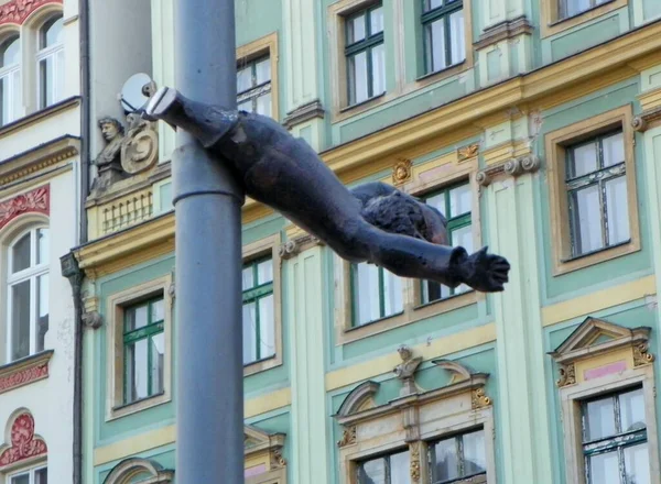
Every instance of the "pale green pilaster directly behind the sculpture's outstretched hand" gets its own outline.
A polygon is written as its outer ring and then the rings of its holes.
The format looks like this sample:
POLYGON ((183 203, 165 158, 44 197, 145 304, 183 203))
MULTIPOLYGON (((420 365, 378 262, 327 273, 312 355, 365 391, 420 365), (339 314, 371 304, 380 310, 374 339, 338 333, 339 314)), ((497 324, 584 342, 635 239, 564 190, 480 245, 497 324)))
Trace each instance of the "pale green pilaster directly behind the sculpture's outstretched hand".
MULTIPOLYGON (((512 123, 510 132, 517 132, 520 124, 512 123)), ((540 311, 541 275, 534 227, 539 160, 530 153, 523 154, 523 150, 521 155, 514 154, 519 145, 514 141, 505 143, 508 150, 513 150, 512 156, 518 157, 491 163, 478 174, 489 217, 489 249, 511 264, 505 292, 492 295, 500 402, 497 432, 502 449, 503 482, 551 484, 550 429, 543 417, 548 415, 549 399, 540 311)), ((491 153, 497 154, 497 150, 491 153)))

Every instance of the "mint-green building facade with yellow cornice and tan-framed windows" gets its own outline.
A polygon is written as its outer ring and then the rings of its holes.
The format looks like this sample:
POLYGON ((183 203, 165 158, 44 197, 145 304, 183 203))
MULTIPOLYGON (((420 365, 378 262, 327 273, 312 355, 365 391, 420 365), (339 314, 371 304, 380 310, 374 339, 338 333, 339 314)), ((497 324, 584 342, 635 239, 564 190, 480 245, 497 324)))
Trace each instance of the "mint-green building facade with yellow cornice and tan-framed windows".
MULTIPOLYGON (((150 48, 130 62, 173 86, 172 2, 141 15, 150 48)), ((239 0, 236 15, 242 109, 512 265, 494 295, 401 279, 248 199, 246 482, 660 483, 659 3, 239 0)), ((174 319, 174 134, 96 98, 115 110, 93 120, 113 175, 99 165, 75 251, 85 482, 176 482, 174 341, 195 321, 174 319)))

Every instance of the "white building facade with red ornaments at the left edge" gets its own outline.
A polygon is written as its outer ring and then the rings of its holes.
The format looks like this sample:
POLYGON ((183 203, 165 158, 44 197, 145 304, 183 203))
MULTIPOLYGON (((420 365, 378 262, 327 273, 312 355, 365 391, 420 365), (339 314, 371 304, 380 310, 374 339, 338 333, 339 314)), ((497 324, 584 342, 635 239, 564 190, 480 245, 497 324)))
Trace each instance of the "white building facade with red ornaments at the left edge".
POLYGON ((0 482, 72 482, 79 230, 76 0, 0 1, 0 482))

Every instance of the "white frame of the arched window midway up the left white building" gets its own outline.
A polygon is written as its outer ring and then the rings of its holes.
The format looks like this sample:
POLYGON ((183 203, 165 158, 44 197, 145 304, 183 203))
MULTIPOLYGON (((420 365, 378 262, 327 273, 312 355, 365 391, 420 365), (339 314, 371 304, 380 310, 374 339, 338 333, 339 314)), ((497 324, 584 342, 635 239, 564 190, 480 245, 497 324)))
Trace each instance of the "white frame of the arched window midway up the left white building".
MULTIPOLYGON (((24 283, 25 280, 30 280, 30 352, 28 355, 33 355, 36 353, 36 305, 35 295, 36 295, 36 280, 39 277, 43 275, 48 275, 50 270, 50 257, 46 258, 45 262, 41 264, 32 265, 32 261, 36 261, 36 251, 37 251, 37 231, 39 230, 48 230, 47 226, 33 226, 29 229, 21 231, 17 237, 14 237, 11 243, 8 245, 8 267, 7 267, 7 283, 6 283, 6 292, 7 292, 7 363, 12 363, 12 297, 11 297, 11 287, 15 286, 20 283, 24 283), (30 267, 20 271, 18 273, 12 273, 11 268, 13 266, 13 246, 19 242, 25 234, 30 234, 30 267)), ((50 237, 50 233, 48 233, 50 237)), ((46 248, 47 250, 47 248, 46 248)), ((50 283, 50 282, 48 282, 50 283)))

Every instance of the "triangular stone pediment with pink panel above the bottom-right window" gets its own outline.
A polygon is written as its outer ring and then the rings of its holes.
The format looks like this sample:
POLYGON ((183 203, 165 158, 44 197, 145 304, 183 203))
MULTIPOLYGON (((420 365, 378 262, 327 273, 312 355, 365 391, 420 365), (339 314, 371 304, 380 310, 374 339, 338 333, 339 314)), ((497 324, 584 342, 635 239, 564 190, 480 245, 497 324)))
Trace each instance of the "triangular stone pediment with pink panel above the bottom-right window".
POLYGON ((549 354, 559 365, 557 386, 594 380, 650 364, 651 328, 625 328, 588 317, 549 354))

